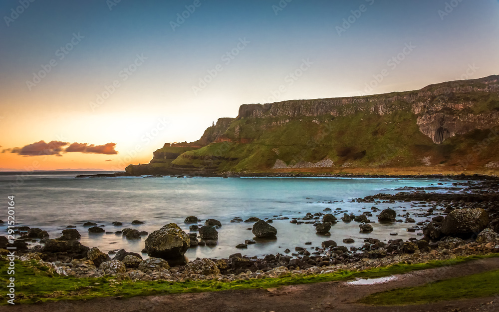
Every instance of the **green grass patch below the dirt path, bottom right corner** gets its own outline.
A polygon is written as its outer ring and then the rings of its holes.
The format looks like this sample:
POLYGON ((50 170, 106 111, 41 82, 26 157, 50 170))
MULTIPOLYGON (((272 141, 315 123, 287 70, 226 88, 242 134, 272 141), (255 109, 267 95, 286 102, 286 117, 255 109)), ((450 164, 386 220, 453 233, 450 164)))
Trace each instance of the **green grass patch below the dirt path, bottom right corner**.
POLYGON ((369 305, 411 305, 491 297, 499 294, 499 270, 437 281, 419 287, 399 288, 367 296, 360 302, 369 305))

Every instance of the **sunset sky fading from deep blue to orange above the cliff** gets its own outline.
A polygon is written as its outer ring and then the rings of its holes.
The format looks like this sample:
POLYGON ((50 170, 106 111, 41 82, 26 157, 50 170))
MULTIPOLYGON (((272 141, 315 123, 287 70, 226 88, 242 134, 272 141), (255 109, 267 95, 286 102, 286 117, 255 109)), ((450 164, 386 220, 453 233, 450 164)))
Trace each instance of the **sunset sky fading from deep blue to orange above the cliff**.
POLYGON ((498 0, 2 0, 0 16, 0 170, 123 170, 242 104, 499 74, 498 0))

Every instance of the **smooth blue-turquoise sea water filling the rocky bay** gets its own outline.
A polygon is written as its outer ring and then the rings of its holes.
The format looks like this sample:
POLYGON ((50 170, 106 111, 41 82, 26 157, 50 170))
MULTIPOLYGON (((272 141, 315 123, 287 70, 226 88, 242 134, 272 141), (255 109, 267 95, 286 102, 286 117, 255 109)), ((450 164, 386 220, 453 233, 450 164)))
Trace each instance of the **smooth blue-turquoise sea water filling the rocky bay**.
MULTIPOLYGON (((260 257, 283 253, 286 248, 294 252, 296 246, 320 247, 321 242, 330 239, 338 245, 361 247, 363 240, 369 237, 382 241, 418 237, 421 231, 406 231, 414 223, 372 223, 374 231, 361 234, 359 223, 338 220, 331 228, 331 235, 323 236, 316 234, 312 224, 296 225, 290 220, 276 219, 300 218, 307 212, 327 213, 323 211, 325 208, 332 209, 331 213, 340 219, 343 212, 339 213, 337 208, 359 215, 375 206, 381 210, 393 208, 401 215, 409 212, 416 222, 424 221, 426 217, 416 215, 428 210, 422 203, 368 204, 350 201, 377 193, 397 193, 401 191, 397 189, 402 187, 430 187, 432 189, 428 192, 445 192, 455 182, 446 178, 75 178, 78 174, 89 173, 37 172, 19 175, 1 172, 0 194, 4 200, 0 201, 3 202, 0 220, 6 221, 7 196, 14 195, 18 226, 41 228, 50 234, 50 238, 56 238, 66 226, 74 225, 81 234, 83 245, 98 247, 106 253, 121 248, 141 253, 145 237, 127 240, 114 232, 133 228, 151 233, 172 222, 189 232, 189 225, 184 224, 186 216, 202 219, 200 227, 204 220, 213 218, 222 223, 218 229, 218 245, 189 249, 186 253, 188 259, 227 258, 237 252, 260 257), (438 183, 443 185, 437 186, 438 183), (249 217, 274 219, 272 226, 277 229, 277 239, 258 241, 249 245, 248 249, 236 249, 236 245, 253 239, 253 234, 249 230, 252 223, 231 223, 235 217, 243 220, 249 217), (144 224, 131 225, 133 220, 143 221, 144 224), (86 221, 104 225, 106 232, 113 233, 89 235, 88 228, 83 227, 86 221), (122 222, 123 226, 113 226, 114 221, 122 222), (390 236, 390 233, 398 235, 390 236), (353 238, 355 243, 343 244, 345 238, 353 238), (305 246, 305 242, 312 242, 312 245, 305 246)), ((377 221, 377 214, 373 213, 369 219, 377 221)), ((0 231, 4 233, 5 229, 6 224, 0 224, 0 231)), ((143 254, 143 257, 147 258, 147 255, 143 254)))

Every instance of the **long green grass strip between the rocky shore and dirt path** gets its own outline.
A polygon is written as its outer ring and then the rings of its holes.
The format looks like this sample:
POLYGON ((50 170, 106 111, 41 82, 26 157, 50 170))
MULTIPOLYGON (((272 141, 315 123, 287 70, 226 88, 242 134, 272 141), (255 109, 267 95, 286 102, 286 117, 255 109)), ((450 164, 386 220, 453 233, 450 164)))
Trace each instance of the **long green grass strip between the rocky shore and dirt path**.
MULTIPOLYGON (((168 282, 158 281, 115 281, 113 277, 75 278, 52 275, 48 268, 34 261, 15 262, 15 294, 16 304, 32 304, 59 300, 87 300, 92 298, 123 296, 166 295, 179 293, 200 293, 226 290, 244 290, 256 288, 273 288, 285 285, 309 284, 319 282, 345 281, 355 278, 379 278, 395 274, 403 274, 415 270, 439 268, 466 263, 469 261, 498 257, 499 254, 487 256, 459 257, 450 260, 436 260, 420 264, 395 264, 388 267, 365 271, 338 271, 321 275, 294 275, 280 278, 252 279, 249 281, 191 281, 168 282)), ((0 272, 7 272, 8 263, 0 260, 0 272)), ((6 274, 0 276, 2 286, 8 285, 6 274)), ((6 304, 5 292, 0 293, 0 302, 6 304)))

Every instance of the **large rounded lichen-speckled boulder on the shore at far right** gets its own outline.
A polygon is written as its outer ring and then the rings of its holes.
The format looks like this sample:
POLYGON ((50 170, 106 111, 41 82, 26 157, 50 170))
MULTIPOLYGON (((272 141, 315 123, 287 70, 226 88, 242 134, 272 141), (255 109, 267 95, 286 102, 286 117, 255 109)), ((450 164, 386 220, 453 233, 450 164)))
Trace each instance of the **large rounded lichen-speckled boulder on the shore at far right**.
POLYGON ((489 215, 482 208, 455 209, 442 224, 444 235, 471 235, 482 232, 489 224, 489 215))

